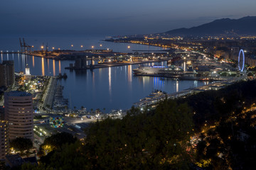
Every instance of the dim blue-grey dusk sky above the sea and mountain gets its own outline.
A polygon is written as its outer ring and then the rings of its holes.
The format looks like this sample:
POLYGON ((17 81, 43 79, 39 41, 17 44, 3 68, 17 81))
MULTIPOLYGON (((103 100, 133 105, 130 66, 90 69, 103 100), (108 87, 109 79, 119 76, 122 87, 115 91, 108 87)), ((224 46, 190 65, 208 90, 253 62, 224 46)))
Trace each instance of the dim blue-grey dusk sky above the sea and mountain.
POLYGON ((256 16, 255 0, 1 0, 0 35, 162 33, 256 16))

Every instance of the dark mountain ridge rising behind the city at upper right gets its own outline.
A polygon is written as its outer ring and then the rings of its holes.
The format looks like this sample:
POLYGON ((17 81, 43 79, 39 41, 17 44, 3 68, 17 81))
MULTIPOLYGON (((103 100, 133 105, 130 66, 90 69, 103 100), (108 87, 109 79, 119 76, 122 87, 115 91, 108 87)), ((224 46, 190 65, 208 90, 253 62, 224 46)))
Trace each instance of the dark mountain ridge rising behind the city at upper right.
POLYGON ((240 19, 223 18, 201 26, 179 28, 166 32, 169 35, 220 35, 236 33, 238 35, 256 35, 256 16, 240 19))

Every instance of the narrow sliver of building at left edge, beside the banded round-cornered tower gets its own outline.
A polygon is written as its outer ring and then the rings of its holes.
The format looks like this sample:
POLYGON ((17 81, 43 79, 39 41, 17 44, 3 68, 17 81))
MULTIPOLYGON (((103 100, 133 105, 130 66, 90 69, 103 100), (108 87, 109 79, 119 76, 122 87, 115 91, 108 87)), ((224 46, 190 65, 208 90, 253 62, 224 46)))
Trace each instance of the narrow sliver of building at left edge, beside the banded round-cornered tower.
POLYGON ((0 160, 9 152, 8 122, 0 120, 0 160))

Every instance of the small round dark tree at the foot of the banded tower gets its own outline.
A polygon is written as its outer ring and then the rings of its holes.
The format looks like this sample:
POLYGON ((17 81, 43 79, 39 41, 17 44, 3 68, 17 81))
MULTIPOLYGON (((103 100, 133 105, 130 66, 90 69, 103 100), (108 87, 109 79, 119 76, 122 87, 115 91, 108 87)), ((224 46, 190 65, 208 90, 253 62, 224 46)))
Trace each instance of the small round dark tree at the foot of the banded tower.
POLYGON ((28 138, 17 137, 15 140, 10 142, 10 146, 17 152, 23 154, 24 151, 28 151, 33 147, 33 142, 28 138))

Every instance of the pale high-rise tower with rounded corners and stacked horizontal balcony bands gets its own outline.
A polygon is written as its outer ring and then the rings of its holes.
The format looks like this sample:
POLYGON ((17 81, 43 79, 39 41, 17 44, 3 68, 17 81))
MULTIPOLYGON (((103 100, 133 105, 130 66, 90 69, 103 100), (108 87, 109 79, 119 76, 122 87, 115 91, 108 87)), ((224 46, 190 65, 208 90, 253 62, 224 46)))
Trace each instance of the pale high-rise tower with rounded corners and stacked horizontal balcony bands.
POLYGON ((33 141, 32 95, 24 91, 6 92, 4 119, 9 122, 9 140, 25 137, 33 141))

